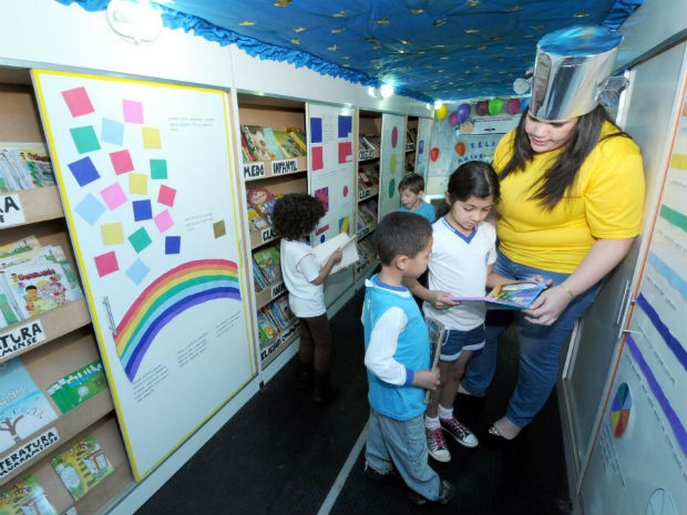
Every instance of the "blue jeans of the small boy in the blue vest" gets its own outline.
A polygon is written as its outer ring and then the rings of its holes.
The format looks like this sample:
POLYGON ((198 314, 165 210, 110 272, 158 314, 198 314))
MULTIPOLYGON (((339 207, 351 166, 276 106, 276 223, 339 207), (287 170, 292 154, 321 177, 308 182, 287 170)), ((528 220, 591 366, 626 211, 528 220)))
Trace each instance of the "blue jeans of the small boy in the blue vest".
POLYGON ((409 488, 430 501, 439 497, 441 481, 428 463, 423 415, 401 422, 370 409, 365 460, 380 474, 396 466, 409 488))

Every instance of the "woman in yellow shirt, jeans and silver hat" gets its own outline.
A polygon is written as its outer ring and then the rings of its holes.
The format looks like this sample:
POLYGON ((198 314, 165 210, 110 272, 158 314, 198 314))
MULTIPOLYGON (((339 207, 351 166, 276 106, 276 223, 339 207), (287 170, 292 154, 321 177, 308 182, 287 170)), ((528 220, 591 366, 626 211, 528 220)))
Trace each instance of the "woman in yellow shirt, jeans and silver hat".
POLYGON ((514 321, 517 384, 505 415, 489 430, 506 440, 517 436, 548 399, 575 321, 639 233, 642 155, 598 105, 598 84, 611 71, 619 41, 603 28, 544 37, 530 107, 494 154, 502 192, 494 271, 514 279, 542 276, 553 285, 527 310, 489 313, 486 344, 461 383, 460 392, 484 395, 495 371, 499 336, 514 321))

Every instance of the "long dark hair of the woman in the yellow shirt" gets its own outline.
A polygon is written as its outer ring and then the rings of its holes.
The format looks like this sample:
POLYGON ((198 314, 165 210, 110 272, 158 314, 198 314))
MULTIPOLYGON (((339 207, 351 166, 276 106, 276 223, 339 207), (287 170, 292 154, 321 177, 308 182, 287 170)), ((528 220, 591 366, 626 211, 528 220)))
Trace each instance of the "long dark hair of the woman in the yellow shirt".
MULTIPOLYGON (((501 179, 511 174, 523 172, 535 154, 525 133, 526 119, 527 111, 520 117, 520 123, 515 130, 513 155, 503 169, 499 171, 499 178, 501 179)), ((565 197, 565 193, 570 192, 570 188, 575 184, 582 164, 596 144, 616 136, 629 137, 613 123, 602 105, 597 105, 594 111, 580 116, 577 125, 573 128, 563 152, 561 152, 556 162, 544 173, 531 198, 539 199, 542 207, 548 210, 553 209, 565 197), (599 140, 604 122, 611 122, 617 128, 617 132, 607 134, 599 140)))

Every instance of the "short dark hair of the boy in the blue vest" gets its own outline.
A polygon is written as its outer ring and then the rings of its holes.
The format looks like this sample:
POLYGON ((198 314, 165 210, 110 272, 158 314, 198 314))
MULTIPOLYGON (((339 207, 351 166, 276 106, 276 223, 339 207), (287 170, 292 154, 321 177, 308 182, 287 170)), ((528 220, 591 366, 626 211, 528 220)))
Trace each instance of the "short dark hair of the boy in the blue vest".
POLYGON ((396 256, 413 258, 427 247, 432 225, 423 216, 393 212, 384 216, 372 234, 372 246, 382 265, 391 265, 396 256))

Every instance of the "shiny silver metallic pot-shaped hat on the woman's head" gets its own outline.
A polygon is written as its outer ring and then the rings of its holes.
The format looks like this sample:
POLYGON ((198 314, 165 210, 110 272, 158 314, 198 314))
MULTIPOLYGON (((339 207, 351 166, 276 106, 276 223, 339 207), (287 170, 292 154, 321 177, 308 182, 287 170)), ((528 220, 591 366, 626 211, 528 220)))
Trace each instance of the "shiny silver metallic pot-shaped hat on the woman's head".
POLYGON ((608 78, 623 37, 603 27, 572 27, 544 35, 536 45, 530 114, 564 121, 586 114, 624 78, 608 78))

